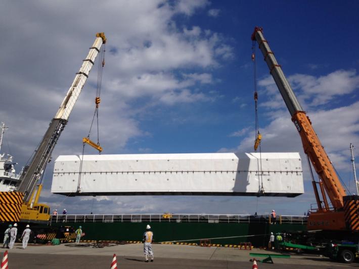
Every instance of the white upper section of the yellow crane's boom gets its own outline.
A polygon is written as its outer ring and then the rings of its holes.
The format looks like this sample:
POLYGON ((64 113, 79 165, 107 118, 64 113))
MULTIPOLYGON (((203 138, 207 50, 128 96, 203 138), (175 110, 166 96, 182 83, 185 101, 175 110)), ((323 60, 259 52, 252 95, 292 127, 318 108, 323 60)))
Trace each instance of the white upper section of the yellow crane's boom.
POLYGON ((86 82, 88 74, 94 65, 102 44, 103 39, 101 37, 97 37, 93 46, 90 48, 86 59, 83 60, 80 71, 76 74, 71 87, 67 91, 67 94, 59 107, 59 111, 54 117, 55 119, 68 120, 73 106, 80 95, 81 89, 86 82))

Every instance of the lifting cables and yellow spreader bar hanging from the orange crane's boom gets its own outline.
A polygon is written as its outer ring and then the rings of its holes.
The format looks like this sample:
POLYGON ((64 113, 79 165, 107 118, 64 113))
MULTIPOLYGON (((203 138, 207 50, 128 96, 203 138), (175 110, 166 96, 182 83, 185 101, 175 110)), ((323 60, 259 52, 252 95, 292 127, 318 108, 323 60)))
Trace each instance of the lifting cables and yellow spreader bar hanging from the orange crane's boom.
POLYGON ((259 160, 257 158, 257 168, 258 173, 260 174, 260 185, 257 196, 257 211, 258 211, 258 197, 264 194, 263 188, 263 173, 262 173, 262 151, 260 147, 260 142, 262 140, 262 135, 259 132, 259 121, 258 121, 258 92, 257 92, 257 65, 255 59, 255 41, 252 42, 252 62, 253 62, 253 83, 254 83, 254 103, 255 103, 255 142, 254 150, 257 151, 259 146, 259 160), (259 164, 260 163, 260 164, 259 164))

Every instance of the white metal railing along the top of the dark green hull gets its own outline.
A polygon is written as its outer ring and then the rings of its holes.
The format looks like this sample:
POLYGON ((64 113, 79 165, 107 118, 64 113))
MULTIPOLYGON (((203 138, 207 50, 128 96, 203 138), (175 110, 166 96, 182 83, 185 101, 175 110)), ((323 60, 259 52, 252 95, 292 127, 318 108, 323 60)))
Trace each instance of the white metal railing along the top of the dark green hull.
MULTIPOLYGON (((281 224, 307 224, 305 216, 278 216, 277 223, 281 224)), ((174 222, 174 223, 268 223, 267 215, 219 215, 219 214, 65 214, 51 216, 51 223, 68 222, 174 222), (170 215, 170 216, 169 216, 170 215)))

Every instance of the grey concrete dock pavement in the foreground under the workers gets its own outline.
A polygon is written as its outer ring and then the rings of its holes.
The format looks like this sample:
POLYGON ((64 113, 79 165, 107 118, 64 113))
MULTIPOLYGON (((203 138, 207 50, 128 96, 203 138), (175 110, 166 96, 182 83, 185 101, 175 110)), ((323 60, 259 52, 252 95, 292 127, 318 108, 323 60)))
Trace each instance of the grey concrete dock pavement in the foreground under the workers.
MULTIPOLYGON (((83 244, 85 245, 85 244, 83 244)), ((103 248, 29 244, 22 249, 15 244, 9 251, 9 268, 109 268, 113 254, 118 268, 251 268, 249 253, 273 253, 260 249, 239 250, 225 247, 154 244, 154 262, 144 262, 143 244, 115 245, 103 248)), ((2 251, 4 255, 5 249, 2 251)), ((274 258, 274 264, 258 263, 258 268, 351 268, 358 263, 343 264, 315 255, 274 258)))

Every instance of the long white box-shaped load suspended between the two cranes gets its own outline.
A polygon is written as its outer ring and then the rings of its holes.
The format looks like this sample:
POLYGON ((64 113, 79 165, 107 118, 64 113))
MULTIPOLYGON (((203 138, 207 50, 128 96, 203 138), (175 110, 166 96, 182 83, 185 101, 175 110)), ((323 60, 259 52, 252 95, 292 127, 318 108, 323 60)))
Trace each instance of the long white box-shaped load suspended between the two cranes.
POLYGON ((289 153, 61 155, 51 192, 76 195, 304 193, 301 158, 289 153), (82 163, 82 166, 81 166, 82 163))

